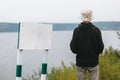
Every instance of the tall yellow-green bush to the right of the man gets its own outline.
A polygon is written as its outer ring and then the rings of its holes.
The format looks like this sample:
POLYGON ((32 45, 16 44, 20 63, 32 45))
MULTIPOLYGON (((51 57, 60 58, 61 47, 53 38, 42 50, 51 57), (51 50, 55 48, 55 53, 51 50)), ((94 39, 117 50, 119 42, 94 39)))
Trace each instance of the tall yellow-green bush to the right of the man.
POLYGON ((99 80, 120 80, 120 51, 112 47, 100 56, 99 80))

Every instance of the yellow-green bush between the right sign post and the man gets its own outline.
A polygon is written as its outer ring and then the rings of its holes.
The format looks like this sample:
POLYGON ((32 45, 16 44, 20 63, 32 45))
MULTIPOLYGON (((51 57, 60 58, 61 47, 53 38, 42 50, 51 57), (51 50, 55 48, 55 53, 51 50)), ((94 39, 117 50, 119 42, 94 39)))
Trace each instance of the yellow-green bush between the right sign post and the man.
POLYGON ((52 68, 48 74, 48 80, 76 80, 76 66, 71 64, 67 67, 64 62, 61 62, 62 67, 52 68))

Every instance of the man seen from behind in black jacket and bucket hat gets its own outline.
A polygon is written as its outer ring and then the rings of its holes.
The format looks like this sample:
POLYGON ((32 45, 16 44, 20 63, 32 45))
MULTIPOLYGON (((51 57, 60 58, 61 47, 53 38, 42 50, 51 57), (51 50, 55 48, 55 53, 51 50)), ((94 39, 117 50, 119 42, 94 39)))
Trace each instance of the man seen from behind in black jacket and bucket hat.
POLYGON ((78 80, 86 80, 87 71, 90 74, 90 80, 98 80, 99 54, 104 48, 101 31, 90 22, 91 10, 85 10, 81 15, 83 22, 75 28, 70 43, 71 51, 76 54, 78 80))

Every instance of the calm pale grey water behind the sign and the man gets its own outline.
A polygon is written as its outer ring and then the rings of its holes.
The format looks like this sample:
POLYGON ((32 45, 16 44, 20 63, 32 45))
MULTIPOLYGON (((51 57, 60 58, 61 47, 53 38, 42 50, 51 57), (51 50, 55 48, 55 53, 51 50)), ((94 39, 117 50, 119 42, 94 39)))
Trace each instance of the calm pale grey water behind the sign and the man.
MULTIPOLYGON (((52 49, 48 54, 48 71, 50 67, 60 66, 61 60, 66 65, 75 63, 75 55, 69 49, 72 31, 54 31, 52 49)), ((120 47, 116 31, 102 31, 105 47, 120 47)), ((17 58, 17 32, 0 33, 0 80, 15 80, 17 58)), ((33 70, 41 69, 44 51, 23 52, 23 77, 31 75, 33 70)))

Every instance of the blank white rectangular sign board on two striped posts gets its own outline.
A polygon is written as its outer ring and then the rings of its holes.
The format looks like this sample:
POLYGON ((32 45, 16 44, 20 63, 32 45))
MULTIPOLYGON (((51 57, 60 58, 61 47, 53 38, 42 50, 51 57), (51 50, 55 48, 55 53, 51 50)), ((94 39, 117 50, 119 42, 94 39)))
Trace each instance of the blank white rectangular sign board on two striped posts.
POLYGON ((52 25, 20 23, 19 49, 51 49, 52 25))

